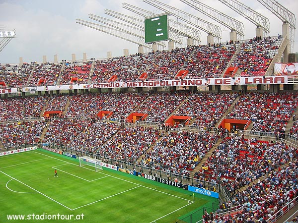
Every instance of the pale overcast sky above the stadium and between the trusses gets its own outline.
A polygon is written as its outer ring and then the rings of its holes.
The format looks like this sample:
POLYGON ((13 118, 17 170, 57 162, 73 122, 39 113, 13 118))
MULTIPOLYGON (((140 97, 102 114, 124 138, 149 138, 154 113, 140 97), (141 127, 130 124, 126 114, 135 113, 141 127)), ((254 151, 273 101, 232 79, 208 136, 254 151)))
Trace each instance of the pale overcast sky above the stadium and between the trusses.
MULTIPOLYGON (((160 1, 219 25, 223 31, 222 42, 229 40, 230 31, 227 28, 182 1, 160 1)), ((282 33, 282 21, 257 0, 239 1, 269 19, 270 36, 282 33)), ((129 54, 135 54, 138 52, 137 44, 76 23, 76 19, 96 22, 88 18, 90 13, 120 21, 105 14, 104 9, 135 16, 136 14, 122 7, 124 2, 155 13, 162 12, 142 0, 0 0, 0 29, 16 30, 16 37, 0 52, 0 63, 19 63, 19 57, 23 57, 24 62, 42 62, 42 56, 47 56, 47 61, 53 62, 54 55, 58 55, 58 60, 71 60, 72 54, 76 55, 76 59, 82 59, 83 53, 86 53, 87 58, 106 58, 107 52, 112 52, 112 56, 123 56, 123 49, 129 49, 129 54)), ((245 26, 244 39, 255 36, 255 25, 219 0, 201 0, 201 2, 241 21, 245 26)), ((279 2, 293 13, 297 13, 297 0, 279 0, 279 2)), ((175 19, 173 16, 169 18, 175 19)), ((207 33, 201 31, 201 34, 201 44, 207 44, 207 33)), ((185 46, 186 40, 183 47, 185 46)), ((295 52, 298 52, 297 32, 295 52)))

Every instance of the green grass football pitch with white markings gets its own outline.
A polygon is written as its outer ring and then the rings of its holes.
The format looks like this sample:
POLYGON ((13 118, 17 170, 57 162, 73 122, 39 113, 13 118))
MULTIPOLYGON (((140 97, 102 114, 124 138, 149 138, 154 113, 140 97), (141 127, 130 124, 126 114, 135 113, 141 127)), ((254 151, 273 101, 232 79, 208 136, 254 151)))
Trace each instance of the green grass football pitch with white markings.
POLYGON ((173 223, 218 200, 93 168, 44 150, 0 157, 0 223, 173 223))

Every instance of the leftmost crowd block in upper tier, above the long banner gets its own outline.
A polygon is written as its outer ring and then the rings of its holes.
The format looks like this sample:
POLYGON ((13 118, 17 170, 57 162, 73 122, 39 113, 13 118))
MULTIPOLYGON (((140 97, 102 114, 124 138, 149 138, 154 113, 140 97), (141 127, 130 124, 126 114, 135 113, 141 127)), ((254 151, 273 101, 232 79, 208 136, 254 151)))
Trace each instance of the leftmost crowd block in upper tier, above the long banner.
POLYGON ((6 87, 24 87, 32 72, 33 65, 29 63, 18 64, 0 64, 0 81, 6 84, 6 87))

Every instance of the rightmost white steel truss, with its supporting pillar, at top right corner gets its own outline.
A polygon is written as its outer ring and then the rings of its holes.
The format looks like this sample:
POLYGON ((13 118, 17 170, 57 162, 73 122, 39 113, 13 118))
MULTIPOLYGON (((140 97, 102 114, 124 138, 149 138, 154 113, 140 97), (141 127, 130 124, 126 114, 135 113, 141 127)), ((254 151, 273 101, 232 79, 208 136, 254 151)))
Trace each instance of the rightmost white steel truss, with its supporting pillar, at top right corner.
POLYGON ((257 0, 264 5, 269 11, 275 14, 284 24, 289 24, 290 28, 290 52, 294 50, 294 39, 296 29, 296 17, 295 14, 285 8, 276 0, 257 0))

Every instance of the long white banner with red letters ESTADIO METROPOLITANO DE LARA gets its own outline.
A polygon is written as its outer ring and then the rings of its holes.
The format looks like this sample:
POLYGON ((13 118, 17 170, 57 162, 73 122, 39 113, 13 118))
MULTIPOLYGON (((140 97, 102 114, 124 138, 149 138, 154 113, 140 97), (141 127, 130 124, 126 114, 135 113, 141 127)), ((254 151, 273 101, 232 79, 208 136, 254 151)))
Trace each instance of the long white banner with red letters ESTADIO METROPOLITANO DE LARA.
POLYGON ((71 84, 55 86, 38 86, 25 88, 4 88, 0 89, 0 94, 12 94, 29 92, 35 94, 40 91, 59 91, 74 89, 96 89, 96 88, 137 88, 137 87, 183 87, 183 86, 210 86, 210 85, 248 85, 248 84, 288 84, 288 76, 257 76, 257 77, 226 77, 226 78, 202 78, 202 79, 182 79, 182 80, 144 80, 128 82, 71 84))

